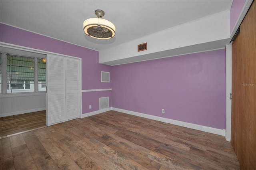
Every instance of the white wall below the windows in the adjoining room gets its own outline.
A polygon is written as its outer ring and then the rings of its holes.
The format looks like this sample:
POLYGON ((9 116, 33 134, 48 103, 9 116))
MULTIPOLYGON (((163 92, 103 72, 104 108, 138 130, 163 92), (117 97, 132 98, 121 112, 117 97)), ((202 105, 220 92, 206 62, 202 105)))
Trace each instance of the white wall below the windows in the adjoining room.
POLYGON ((0 117, 46 110, 46 93, 0 95, 0 117))

